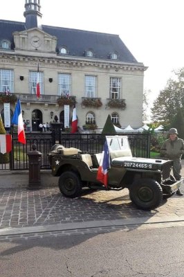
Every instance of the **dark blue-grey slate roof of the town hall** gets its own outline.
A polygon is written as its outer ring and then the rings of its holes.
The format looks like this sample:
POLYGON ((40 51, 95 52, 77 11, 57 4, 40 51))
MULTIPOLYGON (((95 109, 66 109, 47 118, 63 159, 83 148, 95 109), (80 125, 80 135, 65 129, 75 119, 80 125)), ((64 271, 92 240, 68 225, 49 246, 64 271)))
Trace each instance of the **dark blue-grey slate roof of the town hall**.
MULTIPOLYGON (((23 30, 26 30, 23 22, 0 20, 0 41, 8 39, 13 48, 12 33, 23 30)), ((138 63, 118 35, 46 25, 42 25, 42 30, 57 37, 57 50, 65 46, 70 56, 84 57, 85 51, 92 50, 95 59, 109 60, 109 54, 116 53, 116 61, 138 63)))

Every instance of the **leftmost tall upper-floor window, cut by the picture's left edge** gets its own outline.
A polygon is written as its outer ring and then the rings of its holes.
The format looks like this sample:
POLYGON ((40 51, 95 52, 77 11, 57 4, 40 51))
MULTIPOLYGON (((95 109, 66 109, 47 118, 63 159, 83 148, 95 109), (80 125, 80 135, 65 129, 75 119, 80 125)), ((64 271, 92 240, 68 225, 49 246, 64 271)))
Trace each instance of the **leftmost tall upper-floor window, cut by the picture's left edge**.
POLYGON ((0 69, 0 91, 14 92, 14 71, 11 69, 0 69))

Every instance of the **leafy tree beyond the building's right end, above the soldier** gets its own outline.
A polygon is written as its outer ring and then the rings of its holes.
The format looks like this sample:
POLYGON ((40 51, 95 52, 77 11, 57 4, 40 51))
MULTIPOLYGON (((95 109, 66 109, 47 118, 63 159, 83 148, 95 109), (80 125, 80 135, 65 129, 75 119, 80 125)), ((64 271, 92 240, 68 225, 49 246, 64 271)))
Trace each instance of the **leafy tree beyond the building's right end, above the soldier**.
POLYGON ((184 68, 174 71, 176 80, 170 78, 151 108, 151 119, 170 125, 178 109, 183 109, 184 68))

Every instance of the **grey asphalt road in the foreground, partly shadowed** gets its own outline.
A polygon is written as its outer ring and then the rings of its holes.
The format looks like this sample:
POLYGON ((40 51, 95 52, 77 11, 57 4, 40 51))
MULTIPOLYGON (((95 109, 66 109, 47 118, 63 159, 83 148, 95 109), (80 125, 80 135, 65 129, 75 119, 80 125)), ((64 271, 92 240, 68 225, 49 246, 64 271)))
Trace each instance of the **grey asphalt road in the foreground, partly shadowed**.
POLYGON ((1 242, 2 277, 183 277, 183 226, 1 242))

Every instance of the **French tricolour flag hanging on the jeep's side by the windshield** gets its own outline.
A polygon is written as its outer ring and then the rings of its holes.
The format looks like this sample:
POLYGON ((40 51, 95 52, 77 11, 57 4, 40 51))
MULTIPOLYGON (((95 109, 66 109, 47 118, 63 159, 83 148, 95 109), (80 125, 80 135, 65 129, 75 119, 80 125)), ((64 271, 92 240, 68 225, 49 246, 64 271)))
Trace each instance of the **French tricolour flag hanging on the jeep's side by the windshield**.
POLYGON ((110 154, 109 154, 109 148, 107 145, 107 139, 104 143, 104 149, 102 152, 102 159, 100 161, 100 166, 98 168, 97 172, 97 178, 98 181, 100 181, 104 186, 107 188, 108 184, 108 169, 110 168, 110 154))

